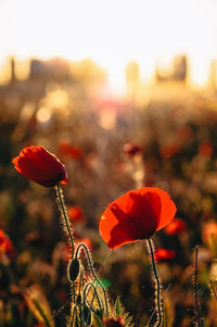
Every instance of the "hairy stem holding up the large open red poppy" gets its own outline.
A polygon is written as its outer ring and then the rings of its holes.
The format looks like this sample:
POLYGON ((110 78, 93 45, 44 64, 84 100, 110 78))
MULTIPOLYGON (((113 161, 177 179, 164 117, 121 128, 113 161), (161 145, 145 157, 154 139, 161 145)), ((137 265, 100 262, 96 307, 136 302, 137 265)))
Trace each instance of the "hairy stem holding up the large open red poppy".
POLYGON ((154 244, 152 239, 148 238, 148 244, 149 244, 149 252, 151 254, 151 260, 152 260, 152 268, 154 273, 154 278, 155 278, 155 290, 156 290, 156 324, 155 327, 162 326, 162 301, 161 301, 161 280, 157 274, 156 269, 156 264, 154 260, 154 244))

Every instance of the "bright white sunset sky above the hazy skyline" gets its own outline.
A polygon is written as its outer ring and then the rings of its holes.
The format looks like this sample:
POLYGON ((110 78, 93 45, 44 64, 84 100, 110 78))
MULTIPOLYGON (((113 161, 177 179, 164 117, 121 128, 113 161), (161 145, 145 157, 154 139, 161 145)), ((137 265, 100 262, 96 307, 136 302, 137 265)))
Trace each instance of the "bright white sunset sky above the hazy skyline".
POLYGON ((130 60, 141 78, 187 53, 202 84, 217 59, 216 0, 0 0, 0 64, 8 55, 93 59, 120 85, 130 60))

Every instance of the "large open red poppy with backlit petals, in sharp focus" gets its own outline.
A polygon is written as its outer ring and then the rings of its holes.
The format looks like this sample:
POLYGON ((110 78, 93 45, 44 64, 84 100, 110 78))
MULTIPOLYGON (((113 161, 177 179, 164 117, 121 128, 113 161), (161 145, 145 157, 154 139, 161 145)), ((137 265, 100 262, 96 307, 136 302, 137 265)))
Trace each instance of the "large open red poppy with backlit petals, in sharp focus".
POLYGON ((100 234, 111 249, 151 237, 168 225, 176 205, 158 188, 131 190, 110 203, 100 219, 100 234))

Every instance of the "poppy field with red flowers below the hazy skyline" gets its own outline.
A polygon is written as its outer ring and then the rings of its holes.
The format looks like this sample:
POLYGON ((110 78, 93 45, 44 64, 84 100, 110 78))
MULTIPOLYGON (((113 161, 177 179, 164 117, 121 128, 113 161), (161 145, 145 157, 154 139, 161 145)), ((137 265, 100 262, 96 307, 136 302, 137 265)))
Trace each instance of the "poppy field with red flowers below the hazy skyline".
POLYGON ((0 327, 217 326, 217 100, 0 87, 0 327))

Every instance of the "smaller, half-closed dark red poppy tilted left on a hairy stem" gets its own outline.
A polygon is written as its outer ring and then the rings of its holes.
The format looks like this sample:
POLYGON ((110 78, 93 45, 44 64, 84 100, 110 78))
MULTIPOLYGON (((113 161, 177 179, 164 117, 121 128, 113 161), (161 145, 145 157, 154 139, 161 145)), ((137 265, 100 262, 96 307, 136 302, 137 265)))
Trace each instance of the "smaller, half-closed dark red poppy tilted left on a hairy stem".
POLYGON ((64 165, 41 146, 23 149, 12 163, 18 173, 44 187, 67 184, 64 165))

